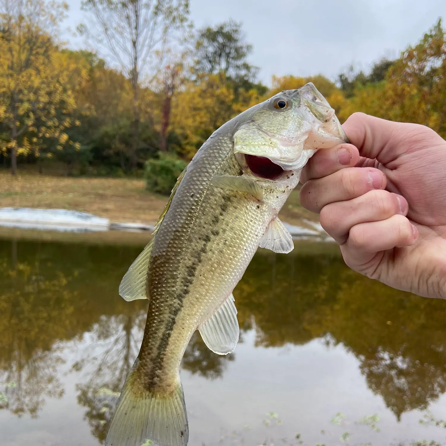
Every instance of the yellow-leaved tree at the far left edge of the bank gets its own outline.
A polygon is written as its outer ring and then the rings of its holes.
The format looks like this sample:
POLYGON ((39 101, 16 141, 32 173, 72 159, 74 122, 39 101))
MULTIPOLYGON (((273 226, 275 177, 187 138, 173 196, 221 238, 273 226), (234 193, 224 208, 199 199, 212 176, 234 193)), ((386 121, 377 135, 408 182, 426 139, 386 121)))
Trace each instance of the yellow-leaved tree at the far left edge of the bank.
POLYGON ((82 83, 83 74, 51 37, 66 8, 45 0, 0 2, 0 149, 11 154, 12 174, 17 155, 38 156, 50 144, 61 148, 69 141, 73 82, 82 83))

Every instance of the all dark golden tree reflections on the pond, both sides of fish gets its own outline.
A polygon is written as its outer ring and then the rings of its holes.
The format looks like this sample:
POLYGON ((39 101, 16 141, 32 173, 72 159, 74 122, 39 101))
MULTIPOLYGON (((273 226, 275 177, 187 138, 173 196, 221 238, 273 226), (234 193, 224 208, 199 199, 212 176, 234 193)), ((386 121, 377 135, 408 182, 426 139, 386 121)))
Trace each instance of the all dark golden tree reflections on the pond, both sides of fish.
MULTIPOLYGON (((147 302, 128 303, 117 295, 139 252, 0 241, 1 409, 37 417, 46 398, 60 398, 64 341, 82 341, 87 347, 68 366, 83 377, 77 401, 92 434, 105 438, 144 330, 147 302)), ((446 303, 352 273, 337 250, 316 253, 303 244, 287 256, 260 251, 234 295, 242 338, 255 330, 255 345, 266 348, 315 338, 342 343, 397 419, 446 391, 446 303)), ((236 359, 237 350, 215 355, 195 334, 182 368, 220 379, 236 359)))

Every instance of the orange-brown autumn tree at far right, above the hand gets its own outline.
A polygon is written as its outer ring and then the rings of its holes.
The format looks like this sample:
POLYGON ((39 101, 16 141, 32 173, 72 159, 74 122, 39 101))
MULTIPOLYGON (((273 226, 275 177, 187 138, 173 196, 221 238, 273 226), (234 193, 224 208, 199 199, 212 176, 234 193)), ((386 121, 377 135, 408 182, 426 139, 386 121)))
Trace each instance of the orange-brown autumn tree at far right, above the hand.
MULTIPOLYGON (((380 79, 379 65, 376 71, 380 79)), ((446 33, 441 20, 392 62, 384 79, 355 85, 353 111, 423 124, 446 136, 446 33)))

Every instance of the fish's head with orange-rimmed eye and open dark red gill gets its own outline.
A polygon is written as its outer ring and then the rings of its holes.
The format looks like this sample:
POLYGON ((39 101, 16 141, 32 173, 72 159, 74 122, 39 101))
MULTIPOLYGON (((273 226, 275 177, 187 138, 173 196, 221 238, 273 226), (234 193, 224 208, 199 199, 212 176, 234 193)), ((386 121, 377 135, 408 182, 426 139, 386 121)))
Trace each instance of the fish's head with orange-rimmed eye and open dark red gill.
POLYGON ((253 107, 234 133, 234 153, 242 168, 275 179, 300 171, 317 149, 347 141, 335 110, 307 83, 253 107))

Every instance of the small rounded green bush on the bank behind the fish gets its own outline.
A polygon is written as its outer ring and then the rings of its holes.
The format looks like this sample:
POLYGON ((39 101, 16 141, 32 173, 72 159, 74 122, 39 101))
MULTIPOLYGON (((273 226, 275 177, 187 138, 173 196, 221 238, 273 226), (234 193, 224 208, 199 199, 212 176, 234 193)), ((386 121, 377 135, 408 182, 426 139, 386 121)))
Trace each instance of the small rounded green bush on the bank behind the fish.
POLYGON ((167 153, 160 153, 158 158, 149 159, 144 173, 146 189, 158 194, 170 195, 186 165, 186 161, 167 153))

